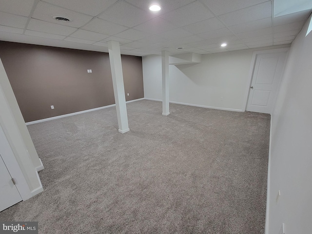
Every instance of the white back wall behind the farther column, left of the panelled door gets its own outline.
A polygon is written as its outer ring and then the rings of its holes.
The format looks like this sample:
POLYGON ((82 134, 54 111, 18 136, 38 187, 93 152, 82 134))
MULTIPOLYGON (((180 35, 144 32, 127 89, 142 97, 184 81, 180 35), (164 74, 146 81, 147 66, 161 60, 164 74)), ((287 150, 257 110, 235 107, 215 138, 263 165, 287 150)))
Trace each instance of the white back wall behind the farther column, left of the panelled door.
MULTIPOLYGON (((231 51, 202 56, 199 64, 170 65, 171 102, 216 109, 241 111, 253 52, 265 48, 231 51)), ((145 98, 161 100, 161 56, 142 59, 145 98)))

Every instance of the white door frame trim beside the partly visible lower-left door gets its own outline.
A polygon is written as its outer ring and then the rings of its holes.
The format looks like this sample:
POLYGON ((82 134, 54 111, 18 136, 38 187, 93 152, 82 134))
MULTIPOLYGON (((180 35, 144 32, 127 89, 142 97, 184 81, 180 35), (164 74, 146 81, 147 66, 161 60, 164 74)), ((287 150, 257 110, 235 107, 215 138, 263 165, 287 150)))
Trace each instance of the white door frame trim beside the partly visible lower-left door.
POLYGON ((10 146, 8 139, 5 136, 1 123, 0 123, 0 155, 11 177, 15 179, 16 181, 15 185, 23 201, 32 197, 33 195, 20 169, 20 165, 15 159, 13 150, 10 146))

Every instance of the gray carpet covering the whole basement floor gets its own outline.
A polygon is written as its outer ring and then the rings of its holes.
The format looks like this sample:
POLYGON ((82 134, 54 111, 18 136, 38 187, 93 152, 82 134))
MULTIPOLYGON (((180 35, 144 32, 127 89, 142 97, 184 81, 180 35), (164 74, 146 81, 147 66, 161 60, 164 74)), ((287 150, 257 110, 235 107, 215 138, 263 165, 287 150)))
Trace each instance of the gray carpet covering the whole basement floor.
POLYGON ((40 234, 264 234, 270 115, 161 102, 28 129, 44 192, 0 212, 40 234))

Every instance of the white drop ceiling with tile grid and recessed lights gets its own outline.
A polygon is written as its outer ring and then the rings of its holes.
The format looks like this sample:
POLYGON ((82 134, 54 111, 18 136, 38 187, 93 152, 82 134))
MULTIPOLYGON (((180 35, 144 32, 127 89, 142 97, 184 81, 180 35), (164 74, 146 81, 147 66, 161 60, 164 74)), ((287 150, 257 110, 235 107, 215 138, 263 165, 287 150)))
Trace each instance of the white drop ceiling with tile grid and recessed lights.
POLYGON ((116 40, 122 54, 135 56, 290 44, 311 9, 274 18, 273 6, 273 0, 0 0, 0 40, 102 52, 116 40), (149 11, 155 2, 161 10, 149 11))

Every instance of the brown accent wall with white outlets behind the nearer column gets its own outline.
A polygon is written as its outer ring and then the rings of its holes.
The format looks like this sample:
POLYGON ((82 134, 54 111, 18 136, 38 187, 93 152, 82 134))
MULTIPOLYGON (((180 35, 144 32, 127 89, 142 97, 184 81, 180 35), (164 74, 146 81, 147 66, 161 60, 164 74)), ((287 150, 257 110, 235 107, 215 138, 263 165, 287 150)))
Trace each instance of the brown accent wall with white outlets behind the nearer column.
MULTIPOLYGON (((0 41, 0 58, 25 122, 115 103, 108 53, 0 41)), ((142 58, 121 60, 126 100, 143 98, 142 58)))

